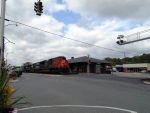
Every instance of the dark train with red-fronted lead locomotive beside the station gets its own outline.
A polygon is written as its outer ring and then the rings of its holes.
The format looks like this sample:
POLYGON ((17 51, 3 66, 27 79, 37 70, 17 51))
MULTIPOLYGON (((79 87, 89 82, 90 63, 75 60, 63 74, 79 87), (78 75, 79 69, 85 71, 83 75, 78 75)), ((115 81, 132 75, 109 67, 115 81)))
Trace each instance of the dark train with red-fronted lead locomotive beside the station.
POLYGON ((24 72, 31 73, 60 73, 68 74, 70 72, 68 61, 64 56, 58 56, 49 60, 44 60, 34 64, 23 66, 24 72))

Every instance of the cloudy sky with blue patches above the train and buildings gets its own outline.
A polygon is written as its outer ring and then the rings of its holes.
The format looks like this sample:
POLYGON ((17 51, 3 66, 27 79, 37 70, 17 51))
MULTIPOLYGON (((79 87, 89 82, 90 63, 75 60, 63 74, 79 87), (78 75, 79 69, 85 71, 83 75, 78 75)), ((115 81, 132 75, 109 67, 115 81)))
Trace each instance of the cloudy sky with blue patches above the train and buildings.
MULTIPOLYGON (((149 0, 41 0, 43 14, 34 11, 37 0, 7 0, 5 18, 5 59, 10 65, 39 62, 57 56, 123 58, 150 53, 150 40, 117 45, 118 35, 150 29, 149 0), (54 35, 57 34, 57 35, 54 35), (87 45, 82 41, 92 45, 87 45), (97 46, 97 47, 96 47, 97 46), (108 50, 108 49, 116 50, 108 50), (13 52, 13 53, 12 53, 13 52)), ((149 32, 140 38, 149 37, 149 32)), ((134 40, 137 35, 124 40, 134 40)))

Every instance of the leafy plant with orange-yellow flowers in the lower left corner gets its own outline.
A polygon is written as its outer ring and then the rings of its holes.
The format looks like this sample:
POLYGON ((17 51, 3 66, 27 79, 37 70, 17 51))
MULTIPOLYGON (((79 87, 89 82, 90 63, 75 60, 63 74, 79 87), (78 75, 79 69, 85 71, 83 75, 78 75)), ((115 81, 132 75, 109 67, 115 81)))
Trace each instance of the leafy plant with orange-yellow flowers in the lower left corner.
POLYGON ((29 102, 19 102, 24 99, 25 96, 12 98, 12 95, 17 91, 10 85, 8 85, 9 76, 8 70, 3 69, 0 77, 0 113, 9 113, 13 107, 30 104, 29 102), (11 101, 13 100, 13 101, 11 101))

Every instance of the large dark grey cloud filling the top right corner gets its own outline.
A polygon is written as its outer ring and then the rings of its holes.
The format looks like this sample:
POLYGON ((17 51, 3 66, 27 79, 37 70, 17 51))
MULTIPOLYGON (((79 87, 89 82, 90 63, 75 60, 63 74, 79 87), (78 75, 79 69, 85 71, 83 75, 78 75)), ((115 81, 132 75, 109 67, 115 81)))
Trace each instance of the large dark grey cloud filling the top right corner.
POLYGON ((149 0, 63 0, 68 9, 99 18, 149 19, 149 0))

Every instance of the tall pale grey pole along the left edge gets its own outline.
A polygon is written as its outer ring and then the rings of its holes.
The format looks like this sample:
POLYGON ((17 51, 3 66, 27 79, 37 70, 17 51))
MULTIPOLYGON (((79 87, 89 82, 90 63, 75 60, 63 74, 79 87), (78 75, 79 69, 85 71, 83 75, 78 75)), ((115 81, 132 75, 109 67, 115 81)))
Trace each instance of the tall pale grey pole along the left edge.
MULTIPOLYGON (((0 71, 2 69, 3 64, 3 49, 4 49, 4 24, 5 24, 5 6, 6 0, 1 0, 1 24, 0 24, 0 71)), ((2 73, 2 71, 0 72, 2 73)))

